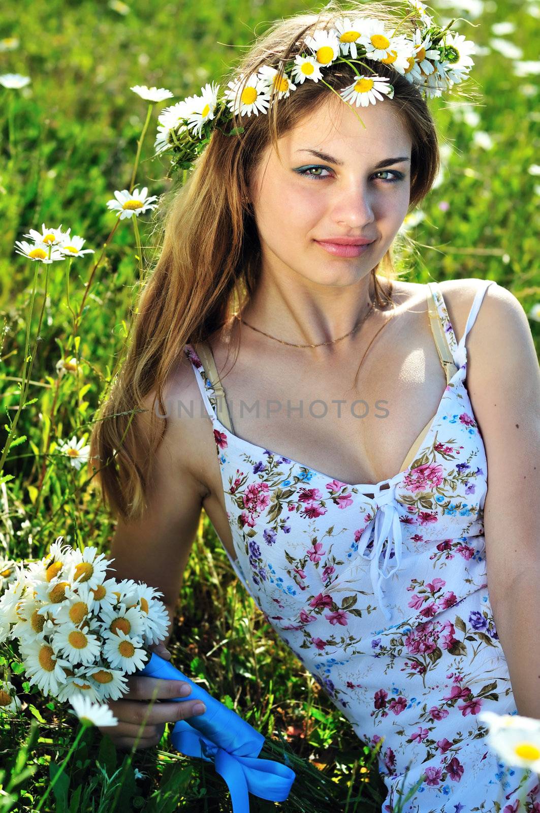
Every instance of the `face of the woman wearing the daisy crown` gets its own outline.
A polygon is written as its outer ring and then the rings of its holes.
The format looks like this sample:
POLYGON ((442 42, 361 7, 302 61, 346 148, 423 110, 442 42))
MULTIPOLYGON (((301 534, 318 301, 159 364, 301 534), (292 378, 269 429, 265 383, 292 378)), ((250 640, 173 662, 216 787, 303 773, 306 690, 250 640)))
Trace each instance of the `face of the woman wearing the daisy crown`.
POLYGON ((394 240, 409 204, 411 137, 388 99, 355 111, 366 128, 332 95, 279 139, 279 156, 265 150, 250 185, 263 271, 347 285, 394 240), (372 242, 342 256, 319 242, 336 237, 372 242))

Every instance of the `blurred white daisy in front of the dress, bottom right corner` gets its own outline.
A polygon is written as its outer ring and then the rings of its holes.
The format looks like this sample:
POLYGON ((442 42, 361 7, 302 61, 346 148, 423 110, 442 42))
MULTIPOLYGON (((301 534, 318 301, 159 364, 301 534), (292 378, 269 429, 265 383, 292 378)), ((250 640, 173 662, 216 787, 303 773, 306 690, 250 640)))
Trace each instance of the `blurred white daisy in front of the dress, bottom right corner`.
POLYGON ((486 740, 504 763, 540 772, 540 720, 494 711, 481 711, 478 719, 487 725, 486 740))

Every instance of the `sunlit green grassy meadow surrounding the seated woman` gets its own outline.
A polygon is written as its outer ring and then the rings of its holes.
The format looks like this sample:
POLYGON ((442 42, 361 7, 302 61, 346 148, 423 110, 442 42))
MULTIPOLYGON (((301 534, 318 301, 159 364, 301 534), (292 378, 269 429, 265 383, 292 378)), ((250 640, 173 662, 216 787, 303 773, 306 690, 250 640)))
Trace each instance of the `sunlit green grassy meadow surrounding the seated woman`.
MULTIPOLYGON (((65 445, 89 438, 161 234, 159 207, 118 222, 107 200, 128 188, 136 165, 137 185, 158 199, 181 182, 169 176, 167 155, 154 152, 164 105, 155 104, 147 121, 148 105, 130 87, 171 89, 170 103, 199 93, 272 20, 321 7, 300 0, 2 4, 0 81, 10 73, 30 81, 0 85, 0 589, 13 572, 9 561, 41 558, 56 537, 110 550, 114 522, 87 464, 73 465, 65 445), (94 254, 48 265, 17 254, 15 241, 41 224, 71 228, 94 254)), ((438 0, 433 9, 440 20, 462 18, 457 30, 478 47, 470 98, 429 102, 442 172, 407 216, 398 267, 417 282, 497 280, 520 300, 539 350, 540 2, 438 0)), ((170 648, 185 673, 272 739, 297 771, 286 802, 251 795, 251 811, 381 810, 373 755, 265 622, 204 514, 170 648)), ((214 767, 172 749, 172 726, 150 750, 121 753, 96 728, 73 748, 76 718, 29 684, 8 641, 0 643, 0 667, 22 703, 17 713, 0 711, 0 813, 231 810, 214 767)))

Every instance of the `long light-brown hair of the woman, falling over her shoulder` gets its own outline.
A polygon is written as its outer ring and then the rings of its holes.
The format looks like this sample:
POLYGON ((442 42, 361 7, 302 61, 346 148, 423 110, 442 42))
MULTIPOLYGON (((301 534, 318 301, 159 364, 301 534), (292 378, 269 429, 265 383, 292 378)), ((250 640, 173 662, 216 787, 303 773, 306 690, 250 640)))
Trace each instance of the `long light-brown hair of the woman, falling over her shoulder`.
MULTIPOLYGON (((250 76, 263 64, 282 70, 303 50, 303 39, 314 29, 333 24, 338 16, 377 17, 397 25, 396 15, 383 2, 351 0, 343 6, 329 2, 320 14, 301 13, 278 20, 259 37, 242 62, 224 80, 242 72, 250 76)), ((415 25, 405 20, 402 33, 415 25)), ((425 100, 415 85, 391 65, 377 63, 377 73, 394 85, 394 105, 412 138, 410 207, 420 202, 438 173, 438 140, 425 100)), ((326 68, 324 80, 339 91, 355 78, 346 63, 326 68)), ((244 133, 228 136, 214 129, 211 140, 194 162, 185 184, 177 189, 163 216, 163 247, 149 274, 133 321, 133 338, 120 373, 99 410, 90 437, 91 458, 98 459, 102 496, 116 515, 134 520, 146 507, 152 455, 167 429, 167 418, 154 421, 152 437, 137 432, 143 399, 154 391, 154 405, 165 413, 163 387, 186 343, 204 341, 242 309, 254 293, 260 274, 260 246, 249 203, 249 178, 265 148, 294 128, 307 111, 313 112, 335 93, 322 82, 304 81, 278 103, 272 99, 267 115, 237 115, 232 126, 244 133)), ((377 305, 392 303, 392 249, 372 269, 377 305), (385 273, 388 291, 381 288, 377 270, 385 273)), ((94 467, 95 469, 95 467, 94 467)))

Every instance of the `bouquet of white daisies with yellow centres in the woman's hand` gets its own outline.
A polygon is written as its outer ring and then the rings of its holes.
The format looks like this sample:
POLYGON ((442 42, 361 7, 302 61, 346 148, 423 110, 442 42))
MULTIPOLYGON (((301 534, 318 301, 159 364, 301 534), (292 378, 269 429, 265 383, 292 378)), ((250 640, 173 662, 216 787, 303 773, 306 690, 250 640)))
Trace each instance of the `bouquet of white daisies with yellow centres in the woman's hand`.
POLYGON ((167 635, 162 593, 107 578, 112 560, 62 540, 40 561, 15 564, 0 598, 0 641, 17 641, 29 682, 44 694, 116 700, 128 691, 126 675, 149 659, 147 648, 167 635))

